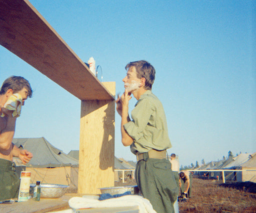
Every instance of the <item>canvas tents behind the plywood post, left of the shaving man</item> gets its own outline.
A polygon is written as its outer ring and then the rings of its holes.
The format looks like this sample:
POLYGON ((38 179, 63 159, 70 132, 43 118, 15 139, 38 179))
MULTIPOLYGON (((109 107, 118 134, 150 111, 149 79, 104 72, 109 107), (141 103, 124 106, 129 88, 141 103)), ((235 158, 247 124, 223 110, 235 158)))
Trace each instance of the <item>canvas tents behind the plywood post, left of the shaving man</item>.
MULTIPOLYGON (((27 149, 33 154, 32 159, 26 164, 14 157, 17 172, 26 170, 31 172, 31 183, 55 183, 70 186, 78 184, 78 159, 79 151, 71 150, 68 154, 54 147, 44 137, 13 138, 12 142, 20 149, 27 149)), ((115 169, 135 169, 135 162, 114 158, 115 169)), ((115 172, 115 180, 120 175, 115 172)))

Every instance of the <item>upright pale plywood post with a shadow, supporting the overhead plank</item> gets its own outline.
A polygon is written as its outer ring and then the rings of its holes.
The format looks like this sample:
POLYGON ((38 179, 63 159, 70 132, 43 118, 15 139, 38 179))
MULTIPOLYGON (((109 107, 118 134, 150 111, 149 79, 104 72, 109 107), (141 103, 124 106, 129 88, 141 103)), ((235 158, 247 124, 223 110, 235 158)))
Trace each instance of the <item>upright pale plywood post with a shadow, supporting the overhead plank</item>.
MULTIPOLYGON (((103 82, 114 96, 115 82, 103 82)), ((114 185, 114 100, 82 100, 78 193, 114 185)))

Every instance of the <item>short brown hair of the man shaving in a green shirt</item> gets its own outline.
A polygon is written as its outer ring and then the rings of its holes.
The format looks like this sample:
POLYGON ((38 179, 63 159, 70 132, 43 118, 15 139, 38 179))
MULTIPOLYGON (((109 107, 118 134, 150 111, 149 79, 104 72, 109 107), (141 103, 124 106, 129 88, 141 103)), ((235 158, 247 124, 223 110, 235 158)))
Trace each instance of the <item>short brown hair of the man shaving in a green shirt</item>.
POLYGON ((146 79, 144 88, 151 90, 155 78, 154 67, 146 60, 137 60, 129 62, 125 69, 127 70, 131 66, 135 67, 138 78, 144 77, 146 79))

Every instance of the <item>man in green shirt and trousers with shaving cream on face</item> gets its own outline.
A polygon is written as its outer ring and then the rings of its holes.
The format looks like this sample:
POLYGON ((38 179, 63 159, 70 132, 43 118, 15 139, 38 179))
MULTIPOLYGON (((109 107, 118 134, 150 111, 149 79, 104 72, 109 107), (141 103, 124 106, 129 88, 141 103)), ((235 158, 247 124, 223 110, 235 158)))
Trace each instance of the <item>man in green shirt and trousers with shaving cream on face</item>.
POLYGON ((157 213, 174 212, 173 203, 178 187, 167 159, 166 149, 171 147, 165 113, 160 100, 152 93, 154 67, 145 60, 128 63, 124 93, 116 100, 121 116, 121 137, 124 146, 137 157, 135 179, 144 196, 157 213), (137 99, 128 114, 131 94, 137 99))

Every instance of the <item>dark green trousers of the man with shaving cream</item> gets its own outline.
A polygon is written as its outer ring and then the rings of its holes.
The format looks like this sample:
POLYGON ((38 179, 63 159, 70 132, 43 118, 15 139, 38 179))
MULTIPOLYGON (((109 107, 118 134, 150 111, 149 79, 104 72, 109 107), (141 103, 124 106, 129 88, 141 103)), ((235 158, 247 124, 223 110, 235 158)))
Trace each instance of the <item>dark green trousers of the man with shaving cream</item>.
POLYGON ((136 164, 135 178, 139 190, 157 213, 174 212, 178 187, 171 164, 166 159, 146 158, 136 164))

